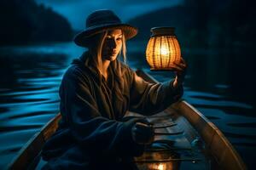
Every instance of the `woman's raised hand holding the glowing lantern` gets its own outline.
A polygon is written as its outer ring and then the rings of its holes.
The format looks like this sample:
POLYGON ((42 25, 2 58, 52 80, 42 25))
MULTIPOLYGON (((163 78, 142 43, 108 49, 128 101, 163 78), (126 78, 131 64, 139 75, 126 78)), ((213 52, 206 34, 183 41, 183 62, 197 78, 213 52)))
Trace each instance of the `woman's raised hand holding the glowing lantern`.
POLYGON ((180 86, 186 76, 187 64, 183 58, 179 62, 174 62, 173 70, 176 73, 175 80, 173 82, 173 88, 180 86))

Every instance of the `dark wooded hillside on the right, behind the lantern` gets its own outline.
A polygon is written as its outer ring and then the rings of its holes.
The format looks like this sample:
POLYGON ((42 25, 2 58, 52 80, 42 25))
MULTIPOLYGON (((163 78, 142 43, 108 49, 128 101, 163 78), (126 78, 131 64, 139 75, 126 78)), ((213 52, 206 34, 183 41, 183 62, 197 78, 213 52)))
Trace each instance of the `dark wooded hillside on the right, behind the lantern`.
POLYGON ((147 40, 151 27, 174 26, 184 47, 253 47, 255 11, 250 0, 184 0, 130 23, 139 28, 138 39, 147 40))

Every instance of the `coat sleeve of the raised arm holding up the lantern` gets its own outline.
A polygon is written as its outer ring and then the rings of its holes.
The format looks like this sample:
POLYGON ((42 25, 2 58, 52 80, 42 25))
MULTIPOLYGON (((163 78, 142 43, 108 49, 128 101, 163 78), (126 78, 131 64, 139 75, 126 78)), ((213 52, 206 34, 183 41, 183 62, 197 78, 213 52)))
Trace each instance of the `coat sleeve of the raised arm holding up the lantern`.
POLYGON ((131 71, 130 110, 143 115, 153 115, 165 110, 183 95, 183 86, 174 88, 172 81, 149 83, 131 71))

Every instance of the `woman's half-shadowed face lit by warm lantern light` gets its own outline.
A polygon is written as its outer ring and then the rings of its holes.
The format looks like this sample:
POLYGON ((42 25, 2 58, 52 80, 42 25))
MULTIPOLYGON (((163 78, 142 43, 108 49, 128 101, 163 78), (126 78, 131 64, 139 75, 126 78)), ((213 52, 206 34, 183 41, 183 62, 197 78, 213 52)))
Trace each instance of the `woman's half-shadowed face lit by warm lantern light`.
POLYGON ((102 46, 102 59, 113 61, 117 58, 122 48, 122 31, 120 29, 109 30, 102 46))

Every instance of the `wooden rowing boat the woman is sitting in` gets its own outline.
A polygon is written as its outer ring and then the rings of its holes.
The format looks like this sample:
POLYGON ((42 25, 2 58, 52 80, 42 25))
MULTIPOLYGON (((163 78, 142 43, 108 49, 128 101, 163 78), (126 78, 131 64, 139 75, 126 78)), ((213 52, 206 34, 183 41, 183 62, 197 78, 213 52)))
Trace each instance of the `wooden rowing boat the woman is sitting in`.
MULTIPOLYGON (((157 82, 143 71, 137 75, 157 82)), ((140 116, 130 113, 129 116, 140 116)), ((22 147, 8 169, 40 169, 43 144, 55 132, 58 114, 22 147)), ((154 144, 134 161, 138 169, 247 169, 224 134, 206 116, 181 100, 165 111, 148 116, 154 122, 154 144)))

